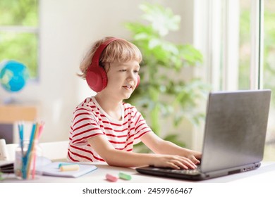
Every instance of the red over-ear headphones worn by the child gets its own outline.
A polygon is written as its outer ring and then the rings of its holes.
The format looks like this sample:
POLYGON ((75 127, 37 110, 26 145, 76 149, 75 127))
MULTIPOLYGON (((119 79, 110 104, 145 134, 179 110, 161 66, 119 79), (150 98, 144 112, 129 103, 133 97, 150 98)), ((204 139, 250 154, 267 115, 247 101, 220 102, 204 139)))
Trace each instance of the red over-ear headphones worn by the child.
MULTIPOLYGON (((99 65, 99 59, 100 59, 100 56, 102 55, 103 50, 106 48, 106 46, 108 46, 108 44, 110 44, 111 42, 117 39, 120 39, 120 38, 113 37, 113 38, 107 39, 105 42, 100 44, 99 47, 97 48, 97 51, 94 52, 94 56, 92 57, 92 63, 86 73, 87 84, 93 91, 96 91, 96 92, 102 91, 102 89, 104 89, 108 83, 106 72, 104 68, 102 68, 99 65)), ((138 75, 138 83, 136 87, 138 87, 138 84, 140 84, 139 75, 138 75)))

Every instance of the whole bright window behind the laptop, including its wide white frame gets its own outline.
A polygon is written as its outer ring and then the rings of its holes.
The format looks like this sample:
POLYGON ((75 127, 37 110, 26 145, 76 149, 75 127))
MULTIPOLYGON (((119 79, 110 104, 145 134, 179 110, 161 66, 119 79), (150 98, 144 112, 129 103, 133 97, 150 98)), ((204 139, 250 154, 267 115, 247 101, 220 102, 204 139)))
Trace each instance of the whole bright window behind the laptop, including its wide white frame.
POLYGON ((207 81, 214 90, 271 89, 264 160, 275 160, 275 1, 208 0, 207 6, 207 81))

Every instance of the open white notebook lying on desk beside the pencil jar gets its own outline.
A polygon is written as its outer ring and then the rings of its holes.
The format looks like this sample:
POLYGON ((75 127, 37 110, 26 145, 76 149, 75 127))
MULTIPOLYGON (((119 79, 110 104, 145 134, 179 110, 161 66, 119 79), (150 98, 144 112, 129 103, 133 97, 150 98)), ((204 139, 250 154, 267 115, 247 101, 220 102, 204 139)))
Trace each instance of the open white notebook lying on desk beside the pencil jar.
POLYGON ((47 175, 47 176, 54 176, 54 177, 73 177, 77 178, 89 172, 97 170, 95 165, 83 165, 78 163, 64 163, 64 162, 53 162, 47 165, 41 165, 37 167, 35 170, 37 174, 47 175), (74 164, 78 165, 78 170, 71 170, 71 171, 61 171, 59 166, 66 164, 74 164))

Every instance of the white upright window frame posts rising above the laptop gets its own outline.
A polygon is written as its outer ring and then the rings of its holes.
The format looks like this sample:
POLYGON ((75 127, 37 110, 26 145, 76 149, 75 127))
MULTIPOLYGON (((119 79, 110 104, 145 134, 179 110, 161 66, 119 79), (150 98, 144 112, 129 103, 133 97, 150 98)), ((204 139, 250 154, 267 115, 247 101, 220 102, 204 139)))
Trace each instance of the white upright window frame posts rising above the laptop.
MULTIPOLYGON (((238 58, 239 58, 239 1, 240 0, 206 0, 204 13, 195 11, 195 23, 200 20, 205 32, 195 34, 195 46, 204 53, 204 66, 207 70, 205 80, 212 84, 212 90, 233 91, 238 89, 238 58), (221 8, 224 10, 221 11, 221 8), (197 15, 196 15, 197 13, 197 15), (200 16, 198 16, 200 15, 200 16), (204 18, 203 18, 204 17, 204 18), (197 20, 196 20, 197 18, 197 20), (196 42, 201 40, 201 43, 196 42)), ((201 4, 197 0, 195 4, 201 4), (197 2, 197 3, 196 3, 197 2)), ((263 1, 251 1, 250 12, 250 87, 249 89, 262 89, 263 87, 263 1)), ((195 6, 197 8, 197 6, 195 6)), ((201 8, 200 8, 201 9, 201 8)))

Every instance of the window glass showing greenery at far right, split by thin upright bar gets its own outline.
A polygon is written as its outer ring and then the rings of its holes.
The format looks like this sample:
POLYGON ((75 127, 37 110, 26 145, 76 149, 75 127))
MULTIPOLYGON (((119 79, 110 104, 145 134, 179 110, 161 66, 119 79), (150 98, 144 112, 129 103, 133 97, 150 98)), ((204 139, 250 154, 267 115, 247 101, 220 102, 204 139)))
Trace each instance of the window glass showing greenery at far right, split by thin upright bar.
POLYGON ((274 25, 275 1, 240 1, 239 88, 257 87, 272 91, 264 151, 265 160, 275 159, 275 124, 273 122, 275 116, 274 25), (247 37, 247 35, 250 36, 247 37), (257 39, 253 40, 253 37, 257 39))

